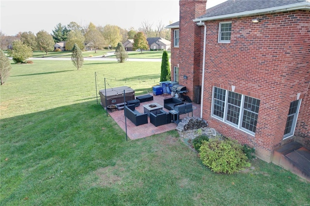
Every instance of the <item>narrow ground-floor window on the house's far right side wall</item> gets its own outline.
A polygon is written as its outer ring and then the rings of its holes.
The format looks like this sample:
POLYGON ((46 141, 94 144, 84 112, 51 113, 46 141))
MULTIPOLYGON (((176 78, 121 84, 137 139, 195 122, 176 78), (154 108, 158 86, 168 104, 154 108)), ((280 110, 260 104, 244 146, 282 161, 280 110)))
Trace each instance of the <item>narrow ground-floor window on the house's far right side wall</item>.
POLYGON ((298 111, 299 111, 299 105, 300 105, 299 100, 291 102, 291 104, 290 104, 289 114, 287 116, 283 138, 294 135, 294 130, 295 130, 296 121, 297 121, 297 115, 298 115, 298 111))

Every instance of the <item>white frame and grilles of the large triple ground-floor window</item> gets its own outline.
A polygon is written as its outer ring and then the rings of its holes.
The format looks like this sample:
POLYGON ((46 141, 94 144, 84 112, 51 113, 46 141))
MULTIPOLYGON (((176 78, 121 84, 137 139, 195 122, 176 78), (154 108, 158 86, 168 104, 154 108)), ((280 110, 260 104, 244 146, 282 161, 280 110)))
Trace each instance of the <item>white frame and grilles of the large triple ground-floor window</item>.
MULTIPOLYGON (((253 119, 254 119, 254 121, 256 120, 256 123, 257 123, 259 104, 258 104, 258 106, 252 104, 255 108, 258 107, 257 112, 256 112, 256 111, 255 111, 255 112, 254 112, 254 111, 251 111, 249 108, 244 108, 245 105, 246 105, 246 104, 245 104, 245 97, 252 98, 252 99, 256 100, 256 102, 257 102, 257 101, 260 101, 260 100, 259 100, 259 99, 256 99, 256 98, 253 98, 253 97, 249 97, 249 96, 243 95, 243 94, 239 94, 239 93, 236 93, 236 92, 233 92, 233 91, 229 91, 229 90, 227 90, 227 89, 219 88, 219 89, 222 89, 222 90, 225 91, 225 92, 223 92, 223 93, 225 94, 225 97, 224 97, 224 99, 222 98, 222 100, 221 100, 221 99, 218 99, 219 96, 217 96, 217 97, 214 96, 215 88, 217 88, 217 87, 213 87, 213 89, 212 89, 211 117, 217 118, 218 120, 220 120, 220 121, 222 121, 222 122, 225 122, 226 124, 229 124, 229 125, 231 125, 231 126, 237 128, 237 129, 239 129, 239 130, 242 130, 243 132, 246 132, 246 133, 248 133, 248 134, 250 134, 250 135, 252 135, 252 136, 255 136, 255 132, 252 132, 251 130, 248 130, 248 129, 246 129, 245 127, 243 127, 243 123, 244 123, 244 124, 247 124, 247 122, 244 122, 244 121, 243 121, 243 118, 244 118, 244 113, 245 113, 245 112, 251 113, 254 117, 256 117, 256 119, 250 117, 250 120, 253 120, 253 119), (233 103, 228 103, 229 92, 233 92, 233 93, 237 94, 238 96, 241 95, 241 99, 239 100, 239 101, 240 101, 240 106, 235 105, 235 104, 233 104, 233 103), (216 101, 217 101, 217 103, 216 103, 216 101), (221 103, 221 104, 218 104, 218 103, 221 103), (221 118, 221 117, 219 117, 219 116, 217 116, 217 115, 214 114, 214 111, 217 111, 217 110, 214 110, 214 106, 215 106, 215 105, 217 105, 217 108, 223 107, 223 108, 222 108, 222 113, 219 111, 219 113, 223 114, 223 118, 221 118), (224 105, 224 106, 223 106, 223 105, 224 105), (232 106, 232 105, 233 105, 235 108, 239 109, 239 111, 238 111, 239 114, 235 117, 235 118, 238 119, 237 124, 235 124, 235 123, 233 123, 232 121, 230 121, 229 119, 227 119, 228 111, 230 110, 230 109, 229 109, 229 106, 232 106), (251 119, 251 118, 252 118, 252 119, 251 119)), ((247 105, 250 105, 250 104, 247 104, 247 105)), ((245 113, 245 115, 246 115, 247 113, 245 113)), ((245 120, 245 121, 246 121, 246 120, 245 120)), ((250 124, 251 124, 251 123, 248 123, 248 125, 250 125, 250 124)), ((246 126, 248 126, 248 125, 246 125, 246 126)), ((254 125, 254 123, 253 123, 252 125, 254 125)), ((256 127, 256 124, 255 124, 255 127, 256 127)))

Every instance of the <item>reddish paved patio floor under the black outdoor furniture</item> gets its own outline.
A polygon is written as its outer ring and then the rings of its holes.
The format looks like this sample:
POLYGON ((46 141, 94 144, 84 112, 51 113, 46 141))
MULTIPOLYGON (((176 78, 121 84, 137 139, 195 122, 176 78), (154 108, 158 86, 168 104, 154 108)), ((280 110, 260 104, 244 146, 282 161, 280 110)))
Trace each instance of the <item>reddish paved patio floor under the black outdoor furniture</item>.
MULTIPOLYGON (((153 96, 152 101, 140 103, 140 106, 135 108, 141 114, 144 113, 143 105, 150 104, 150 103, 158 103, 158 104, 164 106, 164 99, 171 98, 171 94, 153 95, 153 93, 151 93, 151 95, 153 96)), ((186 103, 186 102, 184 102, 184 103, 186 103)), ((193 116, 194 117, 200 117, 200 108, 201 108, 200 106, 201 105, 193 103, 193 102, 191 102, 191 103, 193 104, 193 116)), ((169 112, 169 110, 167 110, 166 108, 163 108, 163 110, 166 112, 169 112)), ((132 140, 151 136, 153 134, 171 131, 177 127, 177 124, 172 123, 172 122, 169 124, 165 124, 165 125, 155 127, 150 122, 150 117, 148 117, 148 123, 147 124, 142 124, 142 125, 136 126, 128 118, 126 118, 126 120, 125 120, 124 109, 116 110, 116 111, 110 111, 109 110, 108 112, 109 112, 109 115, 115 120, 115 122, 124 130, 124 132, 126 132, 126 126, 125 126, 125 122, 126 122, 126 124, 127 124, 127 136, 128 136, 128 138, 130 138, 132 140)), ((191 116, 191 113, 189 113, 188 115, 191 116)), ((182 119, 186 116, 187 116, 187 114, 180 115, 180 119, 182 119)))

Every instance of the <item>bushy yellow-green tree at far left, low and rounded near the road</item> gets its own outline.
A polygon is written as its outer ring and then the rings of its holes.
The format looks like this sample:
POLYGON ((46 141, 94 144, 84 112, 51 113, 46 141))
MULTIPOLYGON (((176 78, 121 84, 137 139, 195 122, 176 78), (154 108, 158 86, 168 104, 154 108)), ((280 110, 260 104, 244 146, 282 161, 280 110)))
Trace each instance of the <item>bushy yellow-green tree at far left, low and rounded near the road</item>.
POLYGON ((8 53, 15 63, 26 63, 26 59, 32 57, 31 47, 20 40, 12 42, 12 49, 9 49, 8 53))

